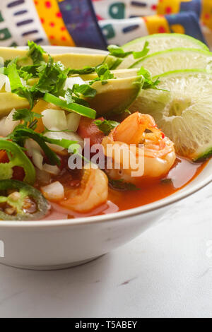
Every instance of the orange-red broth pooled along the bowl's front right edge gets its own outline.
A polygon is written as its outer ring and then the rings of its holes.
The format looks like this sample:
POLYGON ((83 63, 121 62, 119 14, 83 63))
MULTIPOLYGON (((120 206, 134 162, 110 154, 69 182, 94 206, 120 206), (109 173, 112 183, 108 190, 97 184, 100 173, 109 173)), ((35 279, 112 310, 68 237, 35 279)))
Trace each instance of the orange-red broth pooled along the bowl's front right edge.
POLYGON ((75 213, 66 208, 62 208, 56 203, 52 203, 52 211, 45 220, 58 220, 69 218, 88 217, 91 215, 104 215, 117 211, 129 210, 139 206, 159 201, 162 198, 174 194, 179 189, 189 184, 204 169, 205 163, 194 163, 184 158, 177 157, 175 165, 172 167, 167 177, 145 182, 136 191, 109 190, 109 197, 106 204, 95 208, 90 213, 75 213))

